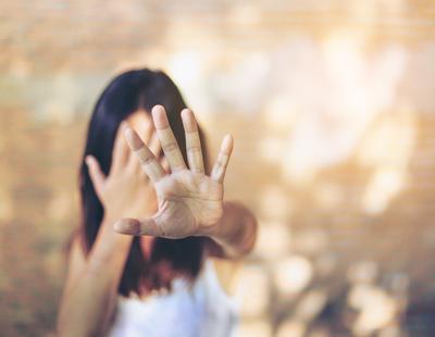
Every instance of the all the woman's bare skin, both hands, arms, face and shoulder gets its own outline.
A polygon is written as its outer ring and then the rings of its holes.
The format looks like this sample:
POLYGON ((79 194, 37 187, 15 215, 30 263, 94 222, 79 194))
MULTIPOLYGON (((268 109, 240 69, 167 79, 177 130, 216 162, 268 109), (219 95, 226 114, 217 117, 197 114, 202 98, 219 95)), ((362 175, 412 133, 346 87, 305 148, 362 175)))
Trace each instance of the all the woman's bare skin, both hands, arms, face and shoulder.
POLYGON ((161 105, 152 109, 152 122, 138 111, 121 125, 108 176, 95 158, 86 159, 104 219, 87 258, 78 239, 73 242, 58 317, 60 336, 100 336, 110 328, 133 236, 141 236, 145 254, 154 237, 209 237, 209 257, 224 284, 252 249, 254 216, 244 205, 223 199, 233 138, 224 137, 208 176, 195 115, 185 109, 182 118, 188 166, 161 105), (159 161, 162 149, 164 160, 159 161))

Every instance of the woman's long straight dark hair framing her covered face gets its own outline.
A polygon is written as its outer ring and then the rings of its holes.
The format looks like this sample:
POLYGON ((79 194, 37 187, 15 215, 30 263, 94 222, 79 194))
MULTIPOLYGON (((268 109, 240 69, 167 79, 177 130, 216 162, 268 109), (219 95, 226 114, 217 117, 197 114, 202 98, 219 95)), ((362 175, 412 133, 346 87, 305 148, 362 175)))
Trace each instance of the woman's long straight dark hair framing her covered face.
MULTIPOLYGON (((150 113, 156 104, 161 104, 166 109, 170 125, 186 160, 186 140, 181 118, 181 111, 186 108, 186 103, 175 84, 163 72, 145 68, 123 73, 112 79, 95 105, 79 170, 82 197, 79 236, 86 255, 96 240, 104 210, 94 189, 85 158, 88 154, 94 155, 101 170, 108 174, 112 162, 113 143, 121 122, 139 109, 145 110, 145 113, 150 113)), ((200 138, 207 170, 207 151, 201 130, 200 138)), ((203 251, 204 240, 200 237, 177 240, 156 238, 150 257, 145 259, 139 238, 135 237, 125 263, 119 292, 128 296, 132 291, 141 295, 144 288, 147 290, 171 289, 171 284, 161 277, 159 272, 161 263, 170 263, 174 271, 183 273, 188 279, 194 279, 201 269, 203 251)))

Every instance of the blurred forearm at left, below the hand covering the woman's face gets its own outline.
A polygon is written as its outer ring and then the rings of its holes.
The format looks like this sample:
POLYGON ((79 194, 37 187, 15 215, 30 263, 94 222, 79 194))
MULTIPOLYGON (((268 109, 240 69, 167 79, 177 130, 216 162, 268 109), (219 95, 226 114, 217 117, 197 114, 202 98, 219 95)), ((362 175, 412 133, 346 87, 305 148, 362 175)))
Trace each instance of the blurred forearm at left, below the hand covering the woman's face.
POLYGON ((59 315, 60 336, 100 335, 116 304, 117 287, 133 237, 105 222, 82 271, 66 285, 59 315))

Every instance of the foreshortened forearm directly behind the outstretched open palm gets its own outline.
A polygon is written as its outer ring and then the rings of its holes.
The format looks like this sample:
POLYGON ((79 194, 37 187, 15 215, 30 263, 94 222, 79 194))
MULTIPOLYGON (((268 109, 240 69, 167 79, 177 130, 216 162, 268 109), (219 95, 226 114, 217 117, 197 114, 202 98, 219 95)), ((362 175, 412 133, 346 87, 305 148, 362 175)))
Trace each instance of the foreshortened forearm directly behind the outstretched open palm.
POLYGON ((248 254, 257 239, 256 216, 243 204, 225 202, 223 215, 207 236, 215 241, 229 258, 248 254))

